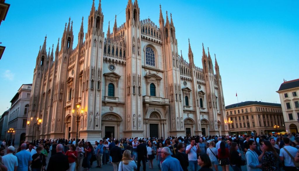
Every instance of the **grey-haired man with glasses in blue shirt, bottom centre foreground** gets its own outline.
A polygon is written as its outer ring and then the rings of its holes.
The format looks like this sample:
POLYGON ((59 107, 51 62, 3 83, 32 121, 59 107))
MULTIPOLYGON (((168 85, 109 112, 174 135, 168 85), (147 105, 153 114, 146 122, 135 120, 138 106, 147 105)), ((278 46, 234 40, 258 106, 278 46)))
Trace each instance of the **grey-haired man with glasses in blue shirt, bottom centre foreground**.
POLYGON ((164 147, 161 152, 163 163, 161 165, 161 171, 183 171, 178 159, 170 156, 170 149, 164 147))

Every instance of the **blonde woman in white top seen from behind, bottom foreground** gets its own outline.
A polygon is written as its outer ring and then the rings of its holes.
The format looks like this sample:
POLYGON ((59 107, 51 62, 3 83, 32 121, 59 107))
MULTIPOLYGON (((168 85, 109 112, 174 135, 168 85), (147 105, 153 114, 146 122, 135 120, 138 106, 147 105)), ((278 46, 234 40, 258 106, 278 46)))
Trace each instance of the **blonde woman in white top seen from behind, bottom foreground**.
POLYGON ((131 151, 125 150, 123 152, 123 158, 118 165, 118 171, 134 171, 137 170, 137 165, 131 157, 131 151))

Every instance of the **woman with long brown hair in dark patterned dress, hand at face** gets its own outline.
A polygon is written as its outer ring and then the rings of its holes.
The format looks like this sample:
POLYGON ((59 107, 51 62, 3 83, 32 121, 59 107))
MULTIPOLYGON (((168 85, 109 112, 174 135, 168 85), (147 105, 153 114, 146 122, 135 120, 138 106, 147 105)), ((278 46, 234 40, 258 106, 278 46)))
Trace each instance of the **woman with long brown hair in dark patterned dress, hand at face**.
POLYGON ((272 144, 270 141, 264 141, 263 146, 261 148, 262 150, 262 156, 261 160, 262 163, 262 170, 263 171, 272 171, 272 170, 277 170, 277 155, 276 151, 273 148, 272 144))

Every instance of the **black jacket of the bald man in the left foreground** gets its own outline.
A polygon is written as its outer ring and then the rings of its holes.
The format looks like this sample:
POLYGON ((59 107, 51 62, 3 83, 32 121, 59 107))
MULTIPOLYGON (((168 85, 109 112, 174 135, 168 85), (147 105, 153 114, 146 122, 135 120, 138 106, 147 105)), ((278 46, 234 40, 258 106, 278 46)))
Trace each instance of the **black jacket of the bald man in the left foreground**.
POLYGON ((65 171, 69 167, 68 156, 62 154, 62 152, 58 152, 56 155, 50 157, 47 171, 65 171))

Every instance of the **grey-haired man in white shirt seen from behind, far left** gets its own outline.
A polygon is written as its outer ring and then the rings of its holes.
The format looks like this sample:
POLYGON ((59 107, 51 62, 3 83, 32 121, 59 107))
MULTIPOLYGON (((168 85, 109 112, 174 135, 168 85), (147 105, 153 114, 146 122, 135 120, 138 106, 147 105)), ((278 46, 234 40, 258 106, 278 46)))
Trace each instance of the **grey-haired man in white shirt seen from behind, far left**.
POLYGON ((2 157, 4 166, 6 166, 9 171, 16 171, 18 168, 18 159, 15 155, 13 155, 13 152, 15 152, 15 148, 13 146, 9 146, 7 148, 7 155, 2 157))

